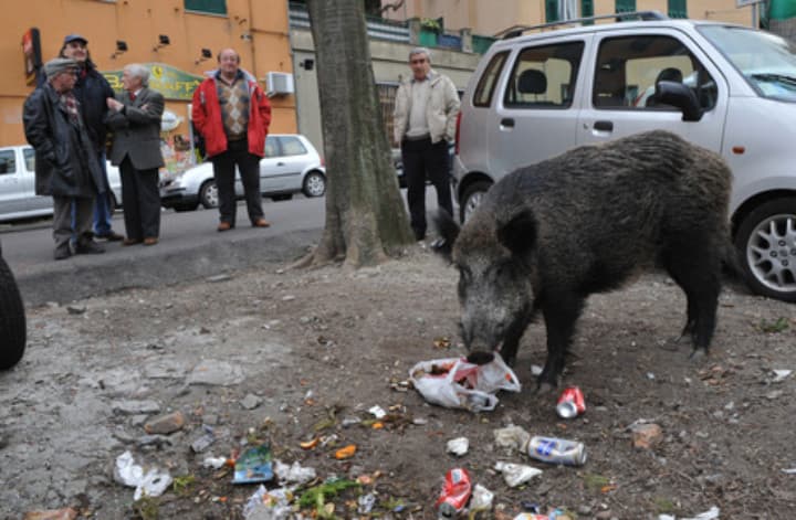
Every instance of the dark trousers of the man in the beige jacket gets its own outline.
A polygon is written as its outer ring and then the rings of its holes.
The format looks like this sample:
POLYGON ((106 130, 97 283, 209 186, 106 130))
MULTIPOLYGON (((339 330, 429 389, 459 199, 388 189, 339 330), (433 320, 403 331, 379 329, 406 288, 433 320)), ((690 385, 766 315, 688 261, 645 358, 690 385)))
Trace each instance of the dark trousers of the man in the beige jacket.
POLYGON ((401 142, 401 160, 407 180, 407 203, 409 204, 409 223, 415 238, 426 237, 426 180, 437 190, 437 204, 453 215, 453 202, 450 188, 450 161, 448 159, 448 141, 442 139, 431 144, 431 138, 401 142))

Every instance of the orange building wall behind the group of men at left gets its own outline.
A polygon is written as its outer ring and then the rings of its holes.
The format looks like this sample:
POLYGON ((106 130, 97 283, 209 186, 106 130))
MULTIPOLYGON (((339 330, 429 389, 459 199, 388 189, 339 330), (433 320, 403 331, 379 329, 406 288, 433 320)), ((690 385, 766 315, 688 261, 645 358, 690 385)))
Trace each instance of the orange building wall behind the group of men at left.
MULTIPOLYGON (((3 2, 0 33, 0 146, 24 142, 22 104, 32 92, 25 84, 22 34, 30 28, 41 32, 42 60, 55 57, 64 35, 76 32, 88 40, 92 60, 100 71, 121 70, 127 63, 160 62, 201 75, 216 67, 216 54, 233 47, 241 66, 261 81, 269 71, 292 73, 287 33, 287 2, 281 0, 227 0, 227 15, 185 12, 184 0, 14 0, 3 2), (170 44, 154 50, 159 34, 170 44), (243 36, 243 38, 241 38, 243 36), (116 40, 128 51, 112 59, 116 40), (196 63, 201 49, 213 57, 196 63)), ((167 108, 187 116, 188 102, 167 102, 167 108)), ((271 131, 296 131, 295 97, 271 99, 271 131)), ((185 124, 177 129, 187 134, 185 124)))

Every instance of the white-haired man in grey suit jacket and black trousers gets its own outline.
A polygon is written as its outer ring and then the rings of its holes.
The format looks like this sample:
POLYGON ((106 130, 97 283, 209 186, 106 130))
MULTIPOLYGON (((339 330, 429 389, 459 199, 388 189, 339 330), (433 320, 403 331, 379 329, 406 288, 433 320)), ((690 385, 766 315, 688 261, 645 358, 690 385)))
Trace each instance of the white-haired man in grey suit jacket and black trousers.
POLYGON ((124 67, 124 93, 108 97, 113 130, 111 162, 119 167, 122 204, 127 237, 123 245, 155 245, 160 234, 158 169, 164 97, 148 87, 149 71, 139 64, 124 67))

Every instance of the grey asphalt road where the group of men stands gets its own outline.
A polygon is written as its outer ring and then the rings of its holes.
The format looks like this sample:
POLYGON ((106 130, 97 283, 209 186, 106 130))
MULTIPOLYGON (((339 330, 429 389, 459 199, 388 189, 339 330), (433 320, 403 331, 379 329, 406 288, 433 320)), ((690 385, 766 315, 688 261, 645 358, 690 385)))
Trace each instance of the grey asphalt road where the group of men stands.
MULTIPOLYGON (((401 195, 406 201, 405 191, 401 195)), ((427 209, 437 208, 433 188, 427 209)), ((104 243, 106 253, 53 261, 51 220, 0 224, 3 257, 17 277, 27 306, 69 303, 130 287, 159 287, 250 268, 263 261, 297 259, 321 237, 324 198, 263 199, 271 227, 249 224, 245 205, 238 205, 237 227, 219 233, 217 210, 176 213, 164 210, 160 242, 123 247, 104 243)), ((114 230, 124 234, 124 216, 114 215, 114 230)))

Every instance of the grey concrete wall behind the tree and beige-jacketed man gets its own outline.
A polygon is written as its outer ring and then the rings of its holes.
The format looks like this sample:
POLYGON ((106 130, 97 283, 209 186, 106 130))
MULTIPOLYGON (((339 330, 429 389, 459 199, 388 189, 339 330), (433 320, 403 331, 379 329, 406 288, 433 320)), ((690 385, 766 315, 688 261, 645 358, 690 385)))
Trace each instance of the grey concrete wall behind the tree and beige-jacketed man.
MULTIPOLYGON (((305 135, 323 155, 321 104, 318 100, 317 67, 307 71, 305 60, 315 61, 312 33, 303 29, 291 30, 293 70, 296 84, 296 113, 298 131, 305 135)), ((376 83, 398 84, 410 74, 408 59, 413 45, 370 40, 370 57, 376 83)), ((464 89, 479 63, 479 54, 431 50, 432 67, 449 76, 459 89, 464 89)))

